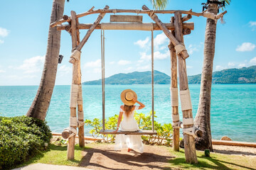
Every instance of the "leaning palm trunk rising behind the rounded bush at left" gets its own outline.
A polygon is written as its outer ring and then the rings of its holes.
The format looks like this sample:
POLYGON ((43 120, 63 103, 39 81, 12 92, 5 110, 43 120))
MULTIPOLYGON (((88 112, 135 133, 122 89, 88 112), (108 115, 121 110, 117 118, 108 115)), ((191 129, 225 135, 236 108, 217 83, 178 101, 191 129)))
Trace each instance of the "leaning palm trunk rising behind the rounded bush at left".
MULTIPOLYGON (((50 16, 50 23, 63 17, 65 0, 53 0, 53 8, 50 16)), ((46 60, 43 67, 41 83, 38 87, 36 97, 26 115, 28 117, 44 120, 53 94, 55 78, 58 67, 58 57, 60 52, 60 30, 56 27, 49 28, 46 60)))

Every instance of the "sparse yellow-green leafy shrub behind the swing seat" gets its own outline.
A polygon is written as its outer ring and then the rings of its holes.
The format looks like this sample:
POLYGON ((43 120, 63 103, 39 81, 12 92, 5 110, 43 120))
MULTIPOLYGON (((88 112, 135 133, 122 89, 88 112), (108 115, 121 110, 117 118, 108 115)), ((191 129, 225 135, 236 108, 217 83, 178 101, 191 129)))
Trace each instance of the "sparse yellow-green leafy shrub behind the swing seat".
MULTIPOLYGON (((137 120, 139 129, 152 130, 151 115, 152 113, 145 115, 144 113, 137 113, 135 111, 134 118, 135 120, 137 120)), ((155 112, 154 117, 156 117, 155 112)), ((105 120, 105 129, 117 129, 117 119, 118 115, 114 115, 108 118, 108 120, 105 120)), ((85 120, 85 124, 92 127, 92 130, 90 130, 90 134, 92 134, 92 137, 102 137, 102 140, 105 142, 114 142, 115 135, 100 135, 100 130, 102 130, 102 120, 98 118, 95 118, 93 120, 85 120)), ((171 126, 171 123, 161 125, 160 123, 154 121, 154 130, 157 132, 157 135, 142 136, 142 140, 144 143, 171 146, 171 139, 173 134, 173 128, 171 126)))

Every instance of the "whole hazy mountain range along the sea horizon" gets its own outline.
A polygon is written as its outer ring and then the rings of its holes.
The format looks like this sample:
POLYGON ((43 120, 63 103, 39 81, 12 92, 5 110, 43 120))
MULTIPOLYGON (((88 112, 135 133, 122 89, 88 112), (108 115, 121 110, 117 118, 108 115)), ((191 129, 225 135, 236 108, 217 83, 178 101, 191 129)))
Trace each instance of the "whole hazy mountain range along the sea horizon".
MULTIPOLYGON (((154 71, 154 84, 170 84, 171 78, 162 72, 154 71)), ((201 74, 188 76, 189 84, 200 84, 201 74)), ((85 81, 84 85, 99 85, 102 80, 85 81)), ((105 78, 105 84, 151 84, 151 72, 119 73, 105 78)), ((213 84, 256 84, 256 66, 241 69, 223 69, 213 72, 213 84)))

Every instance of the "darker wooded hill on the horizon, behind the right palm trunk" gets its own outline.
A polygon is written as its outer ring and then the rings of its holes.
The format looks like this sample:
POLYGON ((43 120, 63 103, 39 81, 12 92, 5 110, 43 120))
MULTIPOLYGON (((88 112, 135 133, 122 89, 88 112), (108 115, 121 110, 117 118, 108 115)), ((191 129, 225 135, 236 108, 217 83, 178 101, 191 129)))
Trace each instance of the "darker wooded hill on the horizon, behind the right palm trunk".
MULTIPOLYGON (((189 84, 200 84, 201 74, 188 77, 189 84)), ((213 84, 255 84, 256 65, 241 69, 223 69, 213 72, 213 84)))

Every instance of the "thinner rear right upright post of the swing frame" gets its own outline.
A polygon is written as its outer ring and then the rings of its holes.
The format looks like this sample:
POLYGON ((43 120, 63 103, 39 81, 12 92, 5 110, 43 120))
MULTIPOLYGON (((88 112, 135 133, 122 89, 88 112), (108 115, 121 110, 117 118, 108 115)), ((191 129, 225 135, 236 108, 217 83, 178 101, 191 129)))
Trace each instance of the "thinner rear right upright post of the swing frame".
MULTIPOLYGON (((171 17, 171 23, 174 23, 174 16, 171 17)), ((172 35, 175 37, 175 31, 171 30, 172 35)), ((176 50, 174 48, 174 44, 169 43, 169 50, 171 52, 171 88, 178 88, 178 78, 177 78, 177 56, 176 56, 176 50)), ((174 91, 171 91, 171 96, 176 95, 178 96, 178 91, 176 91, 177 94, 173 94, 174 91)), ((178 99, 178 98, 177 98, 178 99)), ((172 115, 178 115, 178 106, 173 106, 174 103, 171 103, 171 113, 172 115)), ((174 121, 173 123, 178 122, 179 120, 174 121)), ((173 149, 175 151, 179 151, 179 128, 174 128, 174 135, 173 135, 173 149)))

